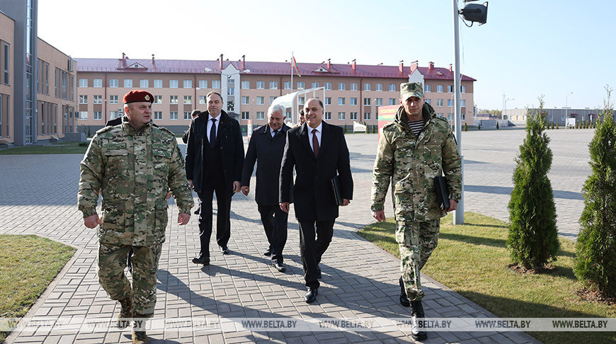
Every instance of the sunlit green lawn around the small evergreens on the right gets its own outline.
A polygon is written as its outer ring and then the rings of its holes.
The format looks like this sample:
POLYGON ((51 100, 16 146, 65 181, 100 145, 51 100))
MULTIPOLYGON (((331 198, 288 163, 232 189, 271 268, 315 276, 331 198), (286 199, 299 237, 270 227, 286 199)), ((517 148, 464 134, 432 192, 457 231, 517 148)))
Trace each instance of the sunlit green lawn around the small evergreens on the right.
MULTIPOLYGON (((368 241, 399 257, 393 219, 358 232, 368 241)), ((503 318, 616 317, 616 306, 588 302, 576 294, 582 285, 573 272, 575 243, 561 239, 554 269, 544 274, 520 274, 505 247, 508 224, 468 212, 464 224, 443 218, 438 248, 422 272, 479 306, 503 318)), ((616 332, 529 332, 544 343, 608 343, 616 332)))

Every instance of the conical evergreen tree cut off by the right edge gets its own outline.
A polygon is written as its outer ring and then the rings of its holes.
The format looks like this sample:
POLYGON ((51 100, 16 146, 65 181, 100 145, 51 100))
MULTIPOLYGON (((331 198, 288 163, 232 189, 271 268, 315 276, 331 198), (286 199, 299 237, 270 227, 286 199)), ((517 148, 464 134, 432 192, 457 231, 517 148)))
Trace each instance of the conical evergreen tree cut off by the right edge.
POLYGON ((574 271, 579 280, 605 295, 616 296, 616 124, 612 88, 605 86, 603 122, 597 120, 591 152, 591 176, 582 189, 584 210, 576 245, 574 271))

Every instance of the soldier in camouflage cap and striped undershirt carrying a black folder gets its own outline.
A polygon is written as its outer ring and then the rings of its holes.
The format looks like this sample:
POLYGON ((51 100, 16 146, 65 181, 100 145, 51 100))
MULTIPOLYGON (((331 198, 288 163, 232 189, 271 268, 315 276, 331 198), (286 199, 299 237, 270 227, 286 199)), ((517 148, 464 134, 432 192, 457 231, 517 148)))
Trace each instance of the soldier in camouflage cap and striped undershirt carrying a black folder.
POLYGON ((401 271, 400 302, 411 306, 416 340, 427 337, 416 319, 423 318, 420 270, 436 248, 440 217, 455 210, 462 190, 460 154, 449 123, 423 101, 423 84, 400 85, 401 106, 379 140, 372 179, 372 216, 385 220, 383 205, 392 185, 401 271), (441 210, 434 178, 445 173, 449 208, 441 210), (411 302, 409 302, 411 300, 411 302))

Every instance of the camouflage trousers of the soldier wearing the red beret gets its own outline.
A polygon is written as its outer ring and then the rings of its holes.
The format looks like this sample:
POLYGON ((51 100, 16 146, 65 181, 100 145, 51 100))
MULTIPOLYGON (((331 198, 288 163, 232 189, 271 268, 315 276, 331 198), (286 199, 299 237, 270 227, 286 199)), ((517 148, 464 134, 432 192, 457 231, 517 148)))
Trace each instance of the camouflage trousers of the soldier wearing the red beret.
POLYGON ((154 316, 156 305, 156 271, 161 258, 162 244, 129 246, 99 243, 96 273, 110 299, 132 298, 137 316, 154 316), (132 287, 124 274, 128 251, 132 247, 132 287))

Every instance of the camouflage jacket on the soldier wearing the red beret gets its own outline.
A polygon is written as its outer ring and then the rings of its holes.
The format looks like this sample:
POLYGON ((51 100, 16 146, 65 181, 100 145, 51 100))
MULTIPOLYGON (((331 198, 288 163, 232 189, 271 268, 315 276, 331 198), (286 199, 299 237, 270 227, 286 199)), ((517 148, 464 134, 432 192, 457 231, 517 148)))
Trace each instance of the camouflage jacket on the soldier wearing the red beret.
POLYGON ((77 199, 79 210, 89 217, 96 214, 101 190, 99 241, 132 246, 164 242, 169 189, 179 212, 190 214, 193 195, 172 132, 150 122, 138 134, 126 117, 121 125, 96 132, 81 161, 77 199))

